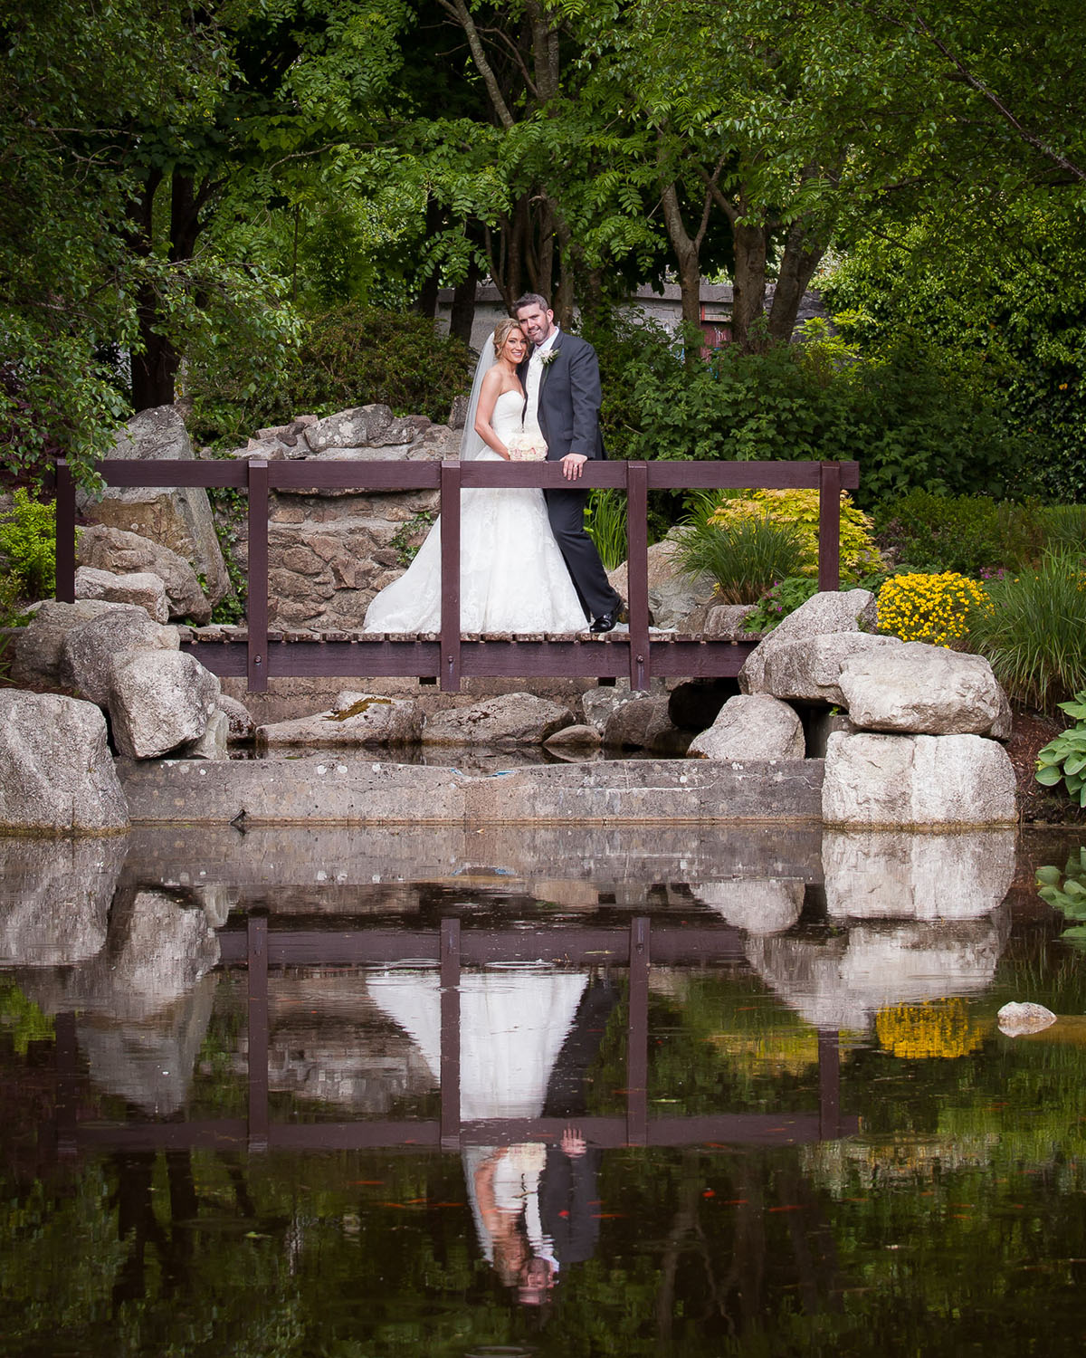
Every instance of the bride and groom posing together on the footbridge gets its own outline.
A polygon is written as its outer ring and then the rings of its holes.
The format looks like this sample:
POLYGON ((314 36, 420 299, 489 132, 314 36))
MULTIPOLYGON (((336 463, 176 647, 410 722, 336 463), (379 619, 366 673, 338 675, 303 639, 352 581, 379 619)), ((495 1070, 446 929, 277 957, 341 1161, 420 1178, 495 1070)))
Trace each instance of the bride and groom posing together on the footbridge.
MULTIPOLYGON (((567 482, 603 458, 600 368, 585 340, 565 334, 538 293, 520 297, 483 346, 462 460, 558 462, 567 482), (529 352, 531 350, 531 352, 529 352)), ((611 631, 622 599, 585 532, 588 492, 475 489, 460 494, 460 626, 464 631, 611 631)), ((441 524, 409 569, 371 603, 367 631, 441 625, 441 524)))

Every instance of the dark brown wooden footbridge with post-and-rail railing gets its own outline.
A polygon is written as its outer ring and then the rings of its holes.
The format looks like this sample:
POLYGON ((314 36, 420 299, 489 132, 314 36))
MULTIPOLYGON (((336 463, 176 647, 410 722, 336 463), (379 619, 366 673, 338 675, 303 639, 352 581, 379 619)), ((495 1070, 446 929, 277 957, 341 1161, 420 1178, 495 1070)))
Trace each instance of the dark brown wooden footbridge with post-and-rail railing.
MULTIPOLYGON (((781 489, 819 492, 819 588, 840 584, 840 492, 859 485, 855 462, 589 462, 581 488, 627 497, 629 633, 462 633, 460 492, 476 488, 567 489, 555 463, 505 462, 266 462, 201 459, 96 464, 109 486, 202 486, 248 496, 246 625, 190 629, 182 649, 221 676, 247 676, 250 693, 269 679, 400 678, 459 691, 466 676, 629 678, 648 689, 653 676, 737 675, 753 642, 650 630, 648 504, 650 490, 781 489), (438 490, 441 509, 441 629, 436 633, 299 631, 269 625, 269 502, 273 492, 314 494, 438 490)), ((57 464, 57 599, 75 600, 75 482, 57 464)))

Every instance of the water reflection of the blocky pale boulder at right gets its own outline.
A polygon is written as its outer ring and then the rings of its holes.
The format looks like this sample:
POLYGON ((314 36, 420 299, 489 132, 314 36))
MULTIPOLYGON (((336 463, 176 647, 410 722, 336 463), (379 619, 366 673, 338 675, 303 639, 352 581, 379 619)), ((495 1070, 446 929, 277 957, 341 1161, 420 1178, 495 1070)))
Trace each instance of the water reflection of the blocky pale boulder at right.
POLYGON ((1013 830, 918 835, 899 830, 823 834, 831 919, 975 919, 1006 899, 1013 830))

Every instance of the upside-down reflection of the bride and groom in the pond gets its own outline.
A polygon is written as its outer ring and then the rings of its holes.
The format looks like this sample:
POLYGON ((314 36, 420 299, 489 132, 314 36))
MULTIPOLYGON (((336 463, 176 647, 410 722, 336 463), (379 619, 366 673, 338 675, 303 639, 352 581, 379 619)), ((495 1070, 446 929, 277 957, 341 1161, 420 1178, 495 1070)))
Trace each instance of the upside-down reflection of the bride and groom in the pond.
MULTIPOLYGON (((441 983, 392 970, 367 982, 441 1080, 441 983)), ((599 1236, 600 1152, 577 1131, 585 1073, 616 994, 585 972, 486 967, 460 976, 460 1120, 562 1119, 557 1145, 470 1145, 462 1158, 486 1260, 524 1305, 540 1305, 561 1270, 589 1259, 599 1236)))

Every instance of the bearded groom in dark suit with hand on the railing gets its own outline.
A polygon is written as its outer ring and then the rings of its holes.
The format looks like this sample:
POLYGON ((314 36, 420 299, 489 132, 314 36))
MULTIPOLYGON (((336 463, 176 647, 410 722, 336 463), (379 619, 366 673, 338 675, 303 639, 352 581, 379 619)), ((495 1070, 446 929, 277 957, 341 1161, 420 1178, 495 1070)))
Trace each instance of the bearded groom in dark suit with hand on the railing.
MULTIPOLYGON (((513 303, 513 315, 532 342, 531 357, 520 368, 527 392, 524 422, 539 421, 547 440, 547 462, 561 462, 566 481, 580 481, 589 458, 603 458, 600 437, 600 365, 586 340, 563 334, 554 323, 547 299, 525 292, 513 303)), ((607 580, 596 545, 585 532, 586 490, 546 490, 547 515, 573 587, 592 631, 611 631, 622 599, 607 580)))

